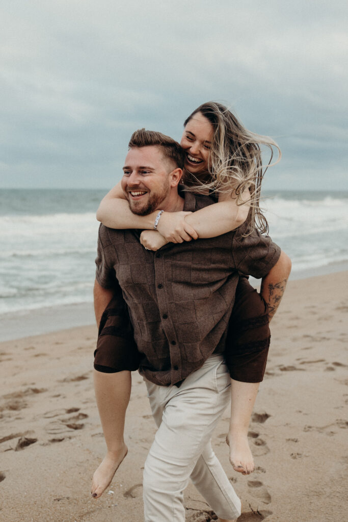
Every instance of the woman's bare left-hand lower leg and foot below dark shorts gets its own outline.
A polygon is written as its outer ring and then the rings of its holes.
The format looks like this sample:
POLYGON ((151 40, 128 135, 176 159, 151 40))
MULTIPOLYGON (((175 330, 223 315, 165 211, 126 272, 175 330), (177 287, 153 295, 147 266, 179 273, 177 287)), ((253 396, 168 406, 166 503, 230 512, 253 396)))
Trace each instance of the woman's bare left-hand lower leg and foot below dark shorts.
POLYGON ((107 453, 93 474, 91 494, 98 499, 127 454, 123 439, 131 389, 130 372, 102 373, 94 370, 94 390, 107 453))

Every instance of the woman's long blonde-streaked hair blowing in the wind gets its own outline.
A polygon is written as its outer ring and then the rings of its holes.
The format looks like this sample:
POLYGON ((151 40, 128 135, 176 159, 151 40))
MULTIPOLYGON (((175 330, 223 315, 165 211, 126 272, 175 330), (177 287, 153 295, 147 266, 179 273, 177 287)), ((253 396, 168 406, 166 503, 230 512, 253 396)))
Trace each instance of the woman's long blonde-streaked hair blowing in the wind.
POLYGON ((273 147, 278 151, 278 163, 281 151, 273 139, 248 131, 224 105, 217 102, 207 102, 200 105, 190 114, 184 123, 186 127, 190 119, 201 113, 213 126, 213 138, 208 159, 208 172, 196 177, 185 172, 185 185, 196 193, 209 192, 222 194, 235 191, 237 205, 243 204, 241 194, 249 190, 250 210, 246 220, 246 234, 256 227, 262 233, 268 233, 268 223, 260 209, 260 189, 263 175, 271 165, 273 147), (260 145, 267 146, 271 157, 262 167, 260 145))

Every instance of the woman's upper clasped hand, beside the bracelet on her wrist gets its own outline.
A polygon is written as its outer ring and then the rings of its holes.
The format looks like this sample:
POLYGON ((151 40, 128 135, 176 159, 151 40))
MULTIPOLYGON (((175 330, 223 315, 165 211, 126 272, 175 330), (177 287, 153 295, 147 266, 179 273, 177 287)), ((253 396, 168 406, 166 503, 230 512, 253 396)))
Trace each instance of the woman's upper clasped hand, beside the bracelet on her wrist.
MULTIPOLYGON (((198 239, 196 230, 185 221, 185 216, 192 212, 163 212, 157 230, 167 243, 183 243, 198 239)), ((151 249, 152 250, 152 249, 151 249)))

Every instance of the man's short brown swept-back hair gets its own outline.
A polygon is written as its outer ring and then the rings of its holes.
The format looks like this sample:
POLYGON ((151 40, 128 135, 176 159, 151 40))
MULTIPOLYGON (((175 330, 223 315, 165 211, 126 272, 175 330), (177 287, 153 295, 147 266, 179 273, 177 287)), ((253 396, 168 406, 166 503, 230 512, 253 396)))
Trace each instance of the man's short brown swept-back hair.
POLYGON ((176 167, 184 169, 185 152, 175 139, 160 132, 146 131, 145 128, 135 131, 129 140, 128 148, 155 146, 161 149, 164 158, 171 160, 176 167))

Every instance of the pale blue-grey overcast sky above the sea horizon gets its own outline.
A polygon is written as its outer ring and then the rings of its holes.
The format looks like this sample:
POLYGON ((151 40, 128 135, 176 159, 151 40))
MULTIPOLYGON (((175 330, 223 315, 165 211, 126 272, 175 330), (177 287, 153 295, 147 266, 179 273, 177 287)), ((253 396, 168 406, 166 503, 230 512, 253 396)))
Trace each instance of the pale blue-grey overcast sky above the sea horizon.
POLYGON ((283 158, 267 188, 348 189, 346 2, 3 0, 0 187, 108 188, 139 127, 229 104, 283 158))

